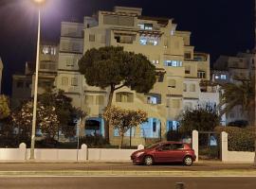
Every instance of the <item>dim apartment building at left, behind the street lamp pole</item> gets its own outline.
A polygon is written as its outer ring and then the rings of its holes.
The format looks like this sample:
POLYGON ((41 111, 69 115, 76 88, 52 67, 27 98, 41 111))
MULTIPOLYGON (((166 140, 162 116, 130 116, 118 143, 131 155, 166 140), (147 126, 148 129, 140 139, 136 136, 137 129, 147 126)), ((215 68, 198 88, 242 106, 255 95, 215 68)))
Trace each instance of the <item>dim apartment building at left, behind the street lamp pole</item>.
MULTIPOLYGON (((57 76, 59 46, 43 42, 40 45, 38 94, 45 92, 46 86, 54 86, 57 76)), ((11 108, 15 109, 34 94, 35 62, 26 62, 24 74, 12 76, 11 108)))

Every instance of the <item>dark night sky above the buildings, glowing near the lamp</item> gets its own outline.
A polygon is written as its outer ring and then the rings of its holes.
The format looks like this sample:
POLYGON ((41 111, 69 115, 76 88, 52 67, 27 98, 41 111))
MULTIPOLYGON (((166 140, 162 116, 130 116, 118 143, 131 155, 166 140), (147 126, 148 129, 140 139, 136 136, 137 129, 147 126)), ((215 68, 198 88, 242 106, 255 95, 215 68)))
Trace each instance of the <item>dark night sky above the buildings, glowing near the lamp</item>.
MULTIPOLYGON (((42 35, 59 42, 61 21, 79 19, 114 6, 143 8, 143 15, 174 18, 179 30, 192 31, 196 51, 235 55, 254 46, 254 0, 48 0, 42 35)), ((11 75, 35 60, 37 11, 30 0, 0 0, 0 57, 4 61, 3 93, 10 94, 11 75)))

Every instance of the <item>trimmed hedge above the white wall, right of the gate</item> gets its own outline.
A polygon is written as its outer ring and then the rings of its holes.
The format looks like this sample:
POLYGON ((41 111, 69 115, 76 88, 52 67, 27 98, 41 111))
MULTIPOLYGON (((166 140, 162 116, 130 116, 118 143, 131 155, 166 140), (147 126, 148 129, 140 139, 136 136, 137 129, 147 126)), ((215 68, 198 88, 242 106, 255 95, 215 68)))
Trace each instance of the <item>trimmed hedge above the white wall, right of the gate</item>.
POLYGON ((218 133, 226 131, 229 134, 228 148, 230 151, 254 151, 254 128, 216 127, 215 130, 218 133))

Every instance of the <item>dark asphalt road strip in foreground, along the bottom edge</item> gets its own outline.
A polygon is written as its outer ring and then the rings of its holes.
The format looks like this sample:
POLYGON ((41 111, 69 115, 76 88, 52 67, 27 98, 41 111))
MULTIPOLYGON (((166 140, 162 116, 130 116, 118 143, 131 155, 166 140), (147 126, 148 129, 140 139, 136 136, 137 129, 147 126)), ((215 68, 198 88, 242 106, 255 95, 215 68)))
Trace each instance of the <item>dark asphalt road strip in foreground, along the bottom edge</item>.
POLYGON ((253 189, 255 178, 166 178, 166 177, 74 177, 74 178, 0 178, 0 189, 253 189))

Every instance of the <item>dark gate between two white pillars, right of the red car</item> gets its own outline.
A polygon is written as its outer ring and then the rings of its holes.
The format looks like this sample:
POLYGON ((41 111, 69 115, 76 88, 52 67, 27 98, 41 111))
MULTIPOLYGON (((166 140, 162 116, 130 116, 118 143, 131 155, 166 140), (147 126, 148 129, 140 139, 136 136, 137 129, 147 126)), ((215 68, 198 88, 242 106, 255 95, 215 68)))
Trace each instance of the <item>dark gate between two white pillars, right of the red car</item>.
POLYGON ((213 131, 198 132, 198 159, 220 160, 221 159, 220 135, 213 131))

